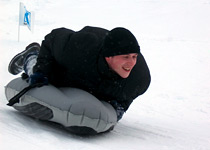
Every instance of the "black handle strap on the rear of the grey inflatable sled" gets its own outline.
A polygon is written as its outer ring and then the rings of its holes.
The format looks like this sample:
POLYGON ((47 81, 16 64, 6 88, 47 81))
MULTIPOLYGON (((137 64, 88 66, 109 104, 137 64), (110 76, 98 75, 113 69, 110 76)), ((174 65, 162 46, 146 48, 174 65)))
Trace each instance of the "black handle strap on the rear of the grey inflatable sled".
POLYGON ((11 98, 7 105, 8 106, 13 106, 15 103, 18 103, 20 101, 20 97, 23 96, 30 89, 33 89, 35 87, 41 87, 43 85, 45 85, 45 84, 43 84, 43 83, 36 83, 36 84, 29 85, 28 87, 26 87, 22 91, 20 91, 17 95, 15 95, 13 98, 11 98))

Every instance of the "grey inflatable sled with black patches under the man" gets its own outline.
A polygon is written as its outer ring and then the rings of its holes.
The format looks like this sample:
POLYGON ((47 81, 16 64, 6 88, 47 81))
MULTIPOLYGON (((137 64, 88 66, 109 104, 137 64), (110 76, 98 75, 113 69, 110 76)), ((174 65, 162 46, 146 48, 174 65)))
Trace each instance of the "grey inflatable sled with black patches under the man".
MULTIPOLYGON (((28 83, 16 78, 5 87, 10 100, 28 83)), ((52 85, 33 88, 13 107, 29 116, 63 125, 80 135, 93 135, 110 131, 117 123, 114 108, 90 93, 77 88, 56 88, 52 85)))

